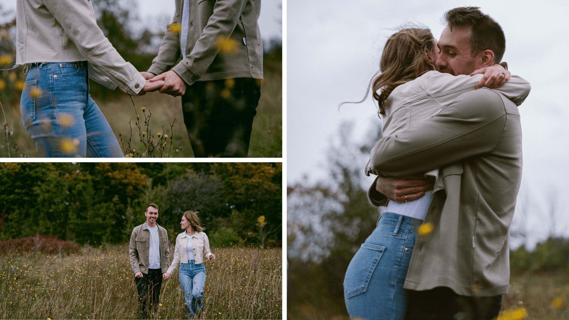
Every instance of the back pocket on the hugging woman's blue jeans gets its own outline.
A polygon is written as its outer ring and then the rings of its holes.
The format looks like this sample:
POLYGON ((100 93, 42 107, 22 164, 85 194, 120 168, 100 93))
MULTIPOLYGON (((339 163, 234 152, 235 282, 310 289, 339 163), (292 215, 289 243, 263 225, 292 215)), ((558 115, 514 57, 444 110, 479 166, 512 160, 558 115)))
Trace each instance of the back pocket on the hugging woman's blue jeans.
POLYGON ((369 280, 376 269, 385 247, 364 243, 350 261, 344 278, 344 295, 346 298, 366 292, 369 280))

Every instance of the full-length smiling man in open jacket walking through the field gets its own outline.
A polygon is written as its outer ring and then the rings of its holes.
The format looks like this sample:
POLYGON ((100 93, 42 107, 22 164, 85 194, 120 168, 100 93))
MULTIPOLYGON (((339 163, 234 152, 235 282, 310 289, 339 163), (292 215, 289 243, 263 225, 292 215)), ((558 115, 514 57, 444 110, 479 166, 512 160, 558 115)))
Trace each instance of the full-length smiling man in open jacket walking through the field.
POLYGON ((162 278, 168 280, 166 273, 170 266, 168 233, 156 223, 158 206, 151 203, 146 206, 146 222, 134 227, 130 236, 130 264, 133 267, 134 282, 137 285, 138 302, 143 315, 147 315, 146 300, 150 295, 152 311, 158 307, 158 296, 162 278))

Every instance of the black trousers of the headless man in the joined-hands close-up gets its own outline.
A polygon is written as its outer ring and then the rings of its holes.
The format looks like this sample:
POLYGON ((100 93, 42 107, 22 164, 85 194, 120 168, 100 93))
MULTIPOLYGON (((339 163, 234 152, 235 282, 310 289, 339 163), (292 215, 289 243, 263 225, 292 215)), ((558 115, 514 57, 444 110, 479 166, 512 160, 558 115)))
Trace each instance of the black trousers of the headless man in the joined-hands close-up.
POLYGON ((246 158, 261 80, 197 81, 182 96, 194 157, 246 158))

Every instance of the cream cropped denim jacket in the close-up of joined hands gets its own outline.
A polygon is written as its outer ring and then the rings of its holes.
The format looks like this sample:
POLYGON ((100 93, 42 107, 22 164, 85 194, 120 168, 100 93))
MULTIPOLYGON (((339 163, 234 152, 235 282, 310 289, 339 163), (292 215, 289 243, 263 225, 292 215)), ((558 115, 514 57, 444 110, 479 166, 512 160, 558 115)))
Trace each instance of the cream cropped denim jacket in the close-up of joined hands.
POLYGON ((137 95, 146 80, 97 26, 89 0, 17 0, 16 63, 89 62, 90 79, 137 95))

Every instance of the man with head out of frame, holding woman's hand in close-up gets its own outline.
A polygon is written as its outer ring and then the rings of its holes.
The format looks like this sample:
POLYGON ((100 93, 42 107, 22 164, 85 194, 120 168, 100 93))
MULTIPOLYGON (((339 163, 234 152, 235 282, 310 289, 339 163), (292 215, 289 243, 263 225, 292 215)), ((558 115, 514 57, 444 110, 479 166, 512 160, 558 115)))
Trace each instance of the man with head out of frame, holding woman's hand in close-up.
POLYGON ((141 72, 182 96, 194 157, 247 157, 263 79, 260 12, 261 0, 176 0, 158 56, 141 72))

